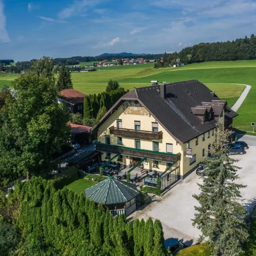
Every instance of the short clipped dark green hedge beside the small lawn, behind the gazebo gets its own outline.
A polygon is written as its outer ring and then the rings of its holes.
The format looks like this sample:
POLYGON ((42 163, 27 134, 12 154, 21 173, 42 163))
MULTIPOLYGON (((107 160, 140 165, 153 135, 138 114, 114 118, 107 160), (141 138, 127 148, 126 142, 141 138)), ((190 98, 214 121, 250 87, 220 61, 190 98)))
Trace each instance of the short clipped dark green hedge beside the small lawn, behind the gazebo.
POLYGON ((64 186, 69 185, 73 181, 79 178, 78 169, 76 166, 71 166, 64 172, 61 172, 58 175, 55 175, 49 179, 49 183, 55 187, 55 189, 62 189, 64 186))

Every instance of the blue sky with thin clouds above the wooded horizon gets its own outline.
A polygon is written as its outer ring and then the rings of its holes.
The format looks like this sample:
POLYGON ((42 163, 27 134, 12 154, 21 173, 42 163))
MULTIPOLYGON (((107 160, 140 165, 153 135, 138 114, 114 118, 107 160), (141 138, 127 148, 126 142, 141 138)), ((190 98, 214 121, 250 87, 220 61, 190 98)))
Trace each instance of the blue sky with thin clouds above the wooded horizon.
POLYGON ((0 59, 179 51, 256 34, 255 13, 256 0, 0 0, 0 59))

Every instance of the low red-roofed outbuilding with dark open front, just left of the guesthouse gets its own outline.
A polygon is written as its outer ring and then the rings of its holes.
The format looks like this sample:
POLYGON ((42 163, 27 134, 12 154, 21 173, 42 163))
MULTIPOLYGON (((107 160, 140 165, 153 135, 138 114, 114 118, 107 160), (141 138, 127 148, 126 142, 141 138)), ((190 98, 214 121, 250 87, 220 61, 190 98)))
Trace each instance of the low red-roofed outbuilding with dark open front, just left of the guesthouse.
POLYGON ((68 124, 71 127, 71 135, 73 140, 81 143, 91 143, 92 127, 85 125, 77 125, 70 122, 68 124))

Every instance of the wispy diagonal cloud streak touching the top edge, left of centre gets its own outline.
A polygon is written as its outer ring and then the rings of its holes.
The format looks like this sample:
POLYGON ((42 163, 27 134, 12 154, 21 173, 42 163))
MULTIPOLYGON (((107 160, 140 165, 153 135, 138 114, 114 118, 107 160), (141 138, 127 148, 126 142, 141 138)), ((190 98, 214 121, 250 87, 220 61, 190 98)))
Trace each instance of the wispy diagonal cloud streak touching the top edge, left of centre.
POLYGON ((58 13, 60 19, 66 19, 78 12, 84 11, 86 7, 96 6, 102 0, 74 0, 73 3, 58 13))

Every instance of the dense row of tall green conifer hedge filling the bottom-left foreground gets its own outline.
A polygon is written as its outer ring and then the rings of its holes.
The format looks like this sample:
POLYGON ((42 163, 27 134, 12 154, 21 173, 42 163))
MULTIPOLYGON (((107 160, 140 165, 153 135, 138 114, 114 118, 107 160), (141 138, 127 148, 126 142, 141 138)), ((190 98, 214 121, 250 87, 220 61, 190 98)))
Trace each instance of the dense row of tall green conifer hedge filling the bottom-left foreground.
POLYGON ((3 228, 0 225, 0 230, 5 230, 3 236, 9 233, 14 239, 14 244, 3 241, 11 249, 3 255, 165 255, 160 221, 153 223, 150 219, 146 230, 144 220, 136 219, 131 225, 124 215, 113 218, 101 204, 96 207, 84 193, 78 195, 66 187, 55 190, 41 177, 17 182, 8 198, 0 198, 0 217, 14 224, 5 224, 3 228))

